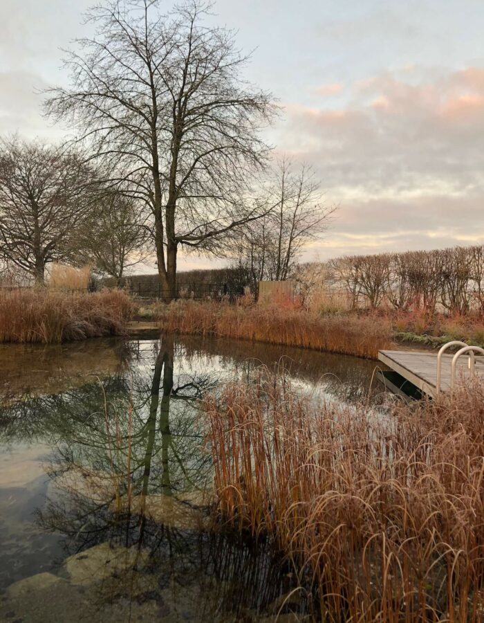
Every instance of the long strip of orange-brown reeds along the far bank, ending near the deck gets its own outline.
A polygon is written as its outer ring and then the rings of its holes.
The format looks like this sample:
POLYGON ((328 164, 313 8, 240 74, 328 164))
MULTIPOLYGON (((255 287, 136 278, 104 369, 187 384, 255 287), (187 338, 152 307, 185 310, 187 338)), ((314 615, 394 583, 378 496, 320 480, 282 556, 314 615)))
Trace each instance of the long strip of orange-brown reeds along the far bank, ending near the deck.
POLYGON ((243 338, 369 359, 391 343, 391 325, 386 320, 322 317, 294 307, 179 301, 162 309, 160 323, 168 333, 243 338))

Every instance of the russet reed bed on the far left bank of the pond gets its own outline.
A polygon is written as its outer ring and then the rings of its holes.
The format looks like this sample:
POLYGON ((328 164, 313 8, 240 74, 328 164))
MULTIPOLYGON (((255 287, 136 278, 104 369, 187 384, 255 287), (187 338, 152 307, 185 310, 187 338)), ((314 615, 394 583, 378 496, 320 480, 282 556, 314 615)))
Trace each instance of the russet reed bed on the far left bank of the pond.
POLYGON ((60 343, 123 335, 133 309, 118 290, 66 294, 18 289, 0 294, 0 343, 60 343))

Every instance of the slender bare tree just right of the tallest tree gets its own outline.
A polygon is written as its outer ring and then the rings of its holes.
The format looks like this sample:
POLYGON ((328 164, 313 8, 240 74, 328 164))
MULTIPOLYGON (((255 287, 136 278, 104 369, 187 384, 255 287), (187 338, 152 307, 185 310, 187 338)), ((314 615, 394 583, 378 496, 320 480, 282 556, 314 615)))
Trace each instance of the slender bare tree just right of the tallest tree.
POLYGON ((336 209, 324 204, 313 170, 288 159, 274 167, 266 204, 274 208, 247 228, 239 242, 241 263, 254 286, 263 279, 287 279, 304 246, 328 228, 336 209))

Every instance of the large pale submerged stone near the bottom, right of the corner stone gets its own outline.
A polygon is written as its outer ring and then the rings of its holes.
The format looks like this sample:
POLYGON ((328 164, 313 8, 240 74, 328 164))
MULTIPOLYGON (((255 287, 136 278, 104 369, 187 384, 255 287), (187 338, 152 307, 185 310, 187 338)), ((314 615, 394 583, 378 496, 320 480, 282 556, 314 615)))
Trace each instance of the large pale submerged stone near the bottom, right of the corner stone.
POLYGON ((73 584, 85 585, 103 581, 113 575, 120 576, 133 568, 144 568, 148 561, 147 550, 111 547, 109 543, 100 543, 69 557, 66 570, 73 584))

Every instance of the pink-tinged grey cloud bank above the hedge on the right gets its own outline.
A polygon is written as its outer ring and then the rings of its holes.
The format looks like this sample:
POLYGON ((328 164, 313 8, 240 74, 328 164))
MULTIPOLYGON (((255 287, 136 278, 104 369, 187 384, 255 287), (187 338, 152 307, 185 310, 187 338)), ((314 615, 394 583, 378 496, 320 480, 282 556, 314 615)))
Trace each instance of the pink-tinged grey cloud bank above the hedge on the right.
POLYGON ((279 149, 311 163, 339 217, 309 253, 484 242, 484 69, 354 82, 344 106, 286 107, 279 149))

